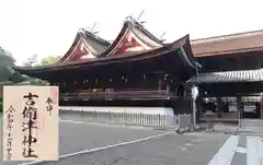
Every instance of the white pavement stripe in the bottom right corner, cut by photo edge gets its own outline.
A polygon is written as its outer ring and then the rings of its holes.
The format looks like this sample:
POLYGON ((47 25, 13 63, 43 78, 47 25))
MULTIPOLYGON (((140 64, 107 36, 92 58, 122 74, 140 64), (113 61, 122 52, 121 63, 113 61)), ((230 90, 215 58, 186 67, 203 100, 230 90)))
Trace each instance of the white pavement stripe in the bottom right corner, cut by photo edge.
POLYGON ((263 165, 263 138, 247 137, 247 165, 263 165))

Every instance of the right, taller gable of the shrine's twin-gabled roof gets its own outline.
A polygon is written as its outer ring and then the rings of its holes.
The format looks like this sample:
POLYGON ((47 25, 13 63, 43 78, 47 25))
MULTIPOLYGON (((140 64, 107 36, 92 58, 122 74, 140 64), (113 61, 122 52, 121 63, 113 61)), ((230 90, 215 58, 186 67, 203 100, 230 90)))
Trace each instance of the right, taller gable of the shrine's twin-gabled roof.
POLYGON ((126 44, 132 44, 132 47, 142 47, 142 49, 139 50, 149 50, 163 46, 161 40, 155 37, 149 31, 147 31, 139 22, 135 21, 132 16, 128 16, 126 19, 117 37, 102 54, 102 56, 123 54, 125 51, 119 51, 119 49, 123 49, 124 45, 126 44))

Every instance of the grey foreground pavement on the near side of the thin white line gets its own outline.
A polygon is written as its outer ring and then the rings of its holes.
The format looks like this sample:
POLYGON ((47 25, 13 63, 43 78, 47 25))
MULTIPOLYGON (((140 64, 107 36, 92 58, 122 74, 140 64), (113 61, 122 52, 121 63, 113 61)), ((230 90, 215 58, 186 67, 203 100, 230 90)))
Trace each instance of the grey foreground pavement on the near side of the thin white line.
MULTIPOLYGON (((261 138, 261 140, 263 140, 261 138)), ((61 158, 39 165, 261 165, 249 155, 247 135, 168 134, 155 140, 61 158), (237 140, 237 141, 236 141, 237 140), (237 145, 235 143, 237 142, 237 145)), ((263 142, 258 156, 263 160, 263 142)), ((256 150, 254 150, 256 152, 256 150)))

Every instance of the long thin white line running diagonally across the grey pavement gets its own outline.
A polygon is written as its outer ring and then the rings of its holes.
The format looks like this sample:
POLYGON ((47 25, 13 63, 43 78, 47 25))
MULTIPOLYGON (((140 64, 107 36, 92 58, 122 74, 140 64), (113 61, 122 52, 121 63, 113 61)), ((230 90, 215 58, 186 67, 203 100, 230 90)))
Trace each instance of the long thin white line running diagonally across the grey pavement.
MULTIPOLYGON (((95 149, 91 149, 91 150, 83 150, 83 151, 79 151, 79 152, 75 152, 75 153, 69 153, 69 154, 60 155, 59 160, 76 156, 76 155, 80 155, 80 154, 89 154, 89 153, 93 153, 93 152, 99 152, 99 151, 102 151, 102 150, 113 149, 113 148, 117 148, 117 146, 124 146, 124 145, 127 145, 127 144, 139 143, 139 142, 144 142, 144 141, 148 141, 148 140, 153 140, 153 139, 161 138, 161 137, 172 134, 172 133, 174 133, 174 131, 165 132, 165 133, 161 133, 161 134, 157 134, 157 135, 151 135, 151 137, 147 137, 147 138, 138 139, 138 140, 133 140, 133 141, 128 141, 128 142, 122 142, 122 143, 101 146, 101 148, 95 148, 95 149)), ((35 165, 35 164, 38 164, 38 163, 43 163, 43 162, 22 163, 20 165, 35 165)))

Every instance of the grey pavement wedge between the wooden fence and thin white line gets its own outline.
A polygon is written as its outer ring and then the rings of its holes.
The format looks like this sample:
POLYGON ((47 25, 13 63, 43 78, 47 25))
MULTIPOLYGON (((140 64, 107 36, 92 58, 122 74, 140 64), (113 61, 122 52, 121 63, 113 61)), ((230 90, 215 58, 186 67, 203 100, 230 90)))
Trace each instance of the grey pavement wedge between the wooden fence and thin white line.
MULTIPOLYGON (((2 128, 2 126, 0 127, 2 128)), ((136 127, 60 122, 59 123, 59 154, 64 155, 64 154, 73 153, 82 150, 89 150, 89 149, 105 146, 110 144, 116 144, 121 142, 156 135, 159 133, 163 133, 163 132, 158 130, 152 131, 149 129, 140 129, 136 127)), ((0 151, 0 154, 2 156, 2 151, 0 151)), ((0 162, 0 165, 2 164, 0 162)), ((14 164, 18 164, 18 162, 5 163, 5 164, 14 165, 14 164)))

